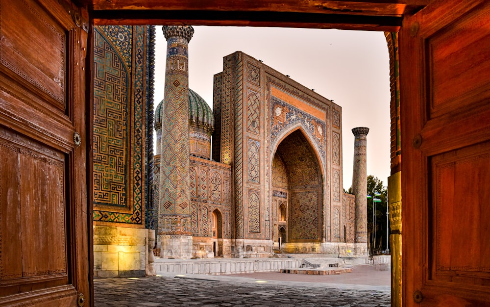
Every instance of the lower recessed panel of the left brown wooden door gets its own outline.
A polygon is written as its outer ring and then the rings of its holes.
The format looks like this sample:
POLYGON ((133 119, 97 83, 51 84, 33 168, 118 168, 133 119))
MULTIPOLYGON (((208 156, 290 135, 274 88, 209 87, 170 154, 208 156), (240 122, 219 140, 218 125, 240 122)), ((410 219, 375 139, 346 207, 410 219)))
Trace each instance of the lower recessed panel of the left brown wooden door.
POLYGON ((68 284, 65 154, 0 128, 0 286, 68 284))

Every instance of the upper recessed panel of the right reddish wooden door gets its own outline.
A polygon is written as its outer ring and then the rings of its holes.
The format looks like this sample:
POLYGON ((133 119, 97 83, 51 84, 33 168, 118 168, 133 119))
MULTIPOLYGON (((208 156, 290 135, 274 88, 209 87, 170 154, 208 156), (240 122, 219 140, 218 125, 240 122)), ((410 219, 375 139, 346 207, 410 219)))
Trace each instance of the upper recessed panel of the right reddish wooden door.
POLYGON ((429 118, 474 107, 490 98, 490 83, 477 77, 490 70, 490 44, 482 44, 490 40, 490 33, 474 30, 488 26, 489 15, 482 17, 480 10, 474 9, 426 39, 432 73, 428 80, 429 118))

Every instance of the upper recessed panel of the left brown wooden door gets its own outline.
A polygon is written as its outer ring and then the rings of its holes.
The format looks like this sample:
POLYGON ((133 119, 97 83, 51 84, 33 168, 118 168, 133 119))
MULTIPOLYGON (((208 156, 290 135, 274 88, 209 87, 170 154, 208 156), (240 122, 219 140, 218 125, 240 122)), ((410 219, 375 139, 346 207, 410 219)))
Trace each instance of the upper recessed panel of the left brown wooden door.
POLYGON ((64 111, 66 29, 33 1, 0 7, 0 63, 64 111))

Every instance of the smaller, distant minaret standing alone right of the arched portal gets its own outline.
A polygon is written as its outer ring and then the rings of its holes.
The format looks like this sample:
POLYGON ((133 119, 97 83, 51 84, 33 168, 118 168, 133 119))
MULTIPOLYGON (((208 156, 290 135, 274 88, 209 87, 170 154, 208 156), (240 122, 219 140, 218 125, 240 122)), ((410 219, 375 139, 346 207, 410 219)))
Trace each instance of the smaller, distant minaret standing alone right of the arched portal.
POLYGON ((356 196, 355 211, 355 254, 368 255, 368 176, 366 164, 366 146, 369 128, 353 128, 354 166, 352 172, 352 194, 356 196))

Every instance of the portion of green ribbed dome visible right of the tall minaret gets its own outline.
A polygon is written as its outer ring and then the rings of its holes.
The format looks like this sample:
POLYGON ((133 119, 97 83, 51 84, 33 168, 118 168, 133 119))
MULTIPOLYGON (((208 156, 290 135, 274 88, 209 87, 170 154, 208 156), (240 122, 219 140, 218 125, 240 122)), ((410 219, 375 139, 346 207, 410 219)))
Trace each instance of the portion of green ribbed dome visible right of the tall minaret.
POLYGON ((189 124, 204 129, 210 135, 214 130, 213 111, 195 91, 189 89, 189 124))

